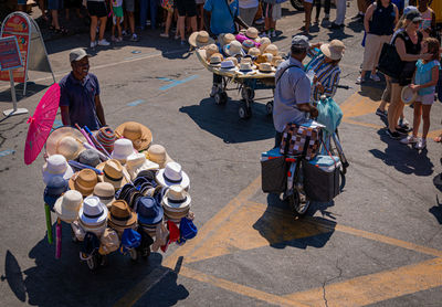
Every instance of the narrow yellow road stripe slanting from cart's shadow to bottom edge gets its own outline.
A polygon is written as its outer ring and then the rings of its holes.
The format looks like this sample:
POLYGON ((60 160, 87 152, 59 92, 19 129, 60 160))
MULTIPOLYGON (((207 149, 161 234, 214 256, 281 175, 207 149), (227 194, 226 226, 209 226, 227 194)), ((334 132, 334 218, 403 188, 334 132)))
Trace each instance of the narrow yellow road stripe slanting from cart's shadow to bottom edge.
POLYGON ((192 278, 192 279, 201 282, 201 283, 207 283, 207 284, 213 285, 213 286, 222 288, 222 289, 227 289, 232 293, 238 293, 243 296, 249 296, 249 297, 252 297, 255 299, 260 299, 260 300, 266 301, 272 305, 299 306, 299 307, 307 306, 304 304, 296 303, 290 298, 284 298, 282 296, 273 295, 273 294, 257 290, 257 289, 244 286, 244 285, 232 283, 227 279, 218 278, 212 275, 208 275, 203 272, 196 271, 196 269, 192 269, 192 268, 189 268, 186 266, 181 267, 180 275, 188 277, 188 278, 192 278))

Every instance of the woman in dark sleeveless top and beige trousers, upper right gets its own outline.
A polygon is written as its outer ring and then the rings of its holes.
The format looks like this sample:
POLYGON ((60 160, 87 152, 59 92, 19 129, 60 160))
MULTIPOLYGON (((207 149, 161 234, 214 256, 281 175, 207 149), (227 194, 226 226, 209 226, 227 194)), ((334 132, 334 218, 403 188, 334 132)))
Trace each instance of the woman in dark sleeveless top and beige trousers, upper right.
POLYGON ((377 0, 367 9, 364 19, 364 28, 367 33, 364 49, 362 70, 356 84, 365 82, 367 71, 370 71, 370 78, 379 82, 376 74, 376 65, 379 62, 380 52, 383 43, 391 40, 394 31, 394 24, 399 20, 398 8, 391 3, 391 0, 377 0))

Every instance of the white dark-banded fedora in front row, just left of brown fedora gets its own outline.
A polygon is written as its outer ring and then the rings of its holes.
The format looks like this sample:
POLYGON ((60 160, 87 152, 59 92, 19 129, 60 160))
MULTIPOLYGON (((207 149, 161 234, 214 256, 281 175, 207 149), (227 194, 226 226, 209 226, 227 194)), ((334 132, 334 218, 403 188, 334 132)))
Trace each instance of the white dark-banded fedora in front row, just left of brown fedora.
POLYGON ((80 208, 78 221, 86 231, 104 231, 106 229, 107 213, 107 207, 97 197, 87 197, 80 208))

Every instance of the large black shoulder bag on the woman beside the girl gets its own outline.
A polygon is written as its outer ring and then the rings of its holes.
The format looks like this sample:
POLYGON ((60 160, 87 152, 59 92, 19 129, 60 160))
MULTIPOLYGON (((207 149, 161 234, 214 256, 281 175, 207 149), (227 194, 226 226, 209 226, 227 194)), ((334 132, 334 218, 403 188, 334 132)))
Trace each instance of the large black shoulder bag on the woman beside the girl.
POLYGON ((401 76, 404 63, 396 50, 396 39, 397 36, 393 39, 391 44, 383 43, 376 68, 389 77, 399 78, 401 76))

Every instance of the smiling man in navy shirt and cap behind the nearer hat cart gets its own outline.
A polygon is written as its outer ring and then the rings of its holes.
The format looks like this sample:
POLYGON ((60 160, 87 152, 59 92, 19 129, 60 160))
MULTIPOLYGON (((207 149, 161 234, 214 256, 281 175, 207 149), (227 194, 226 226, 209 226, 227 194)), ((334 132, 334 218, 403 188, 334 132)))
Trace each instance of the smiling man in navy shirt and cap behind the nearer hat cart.
POLYGON ((70 53, 72 72, 60 81, 60 109, 65 126, 78 124, 91 130, 98 130, 106 125, 99 84, 90 73, 88 54, 84 49, 74 49, 70 53))

